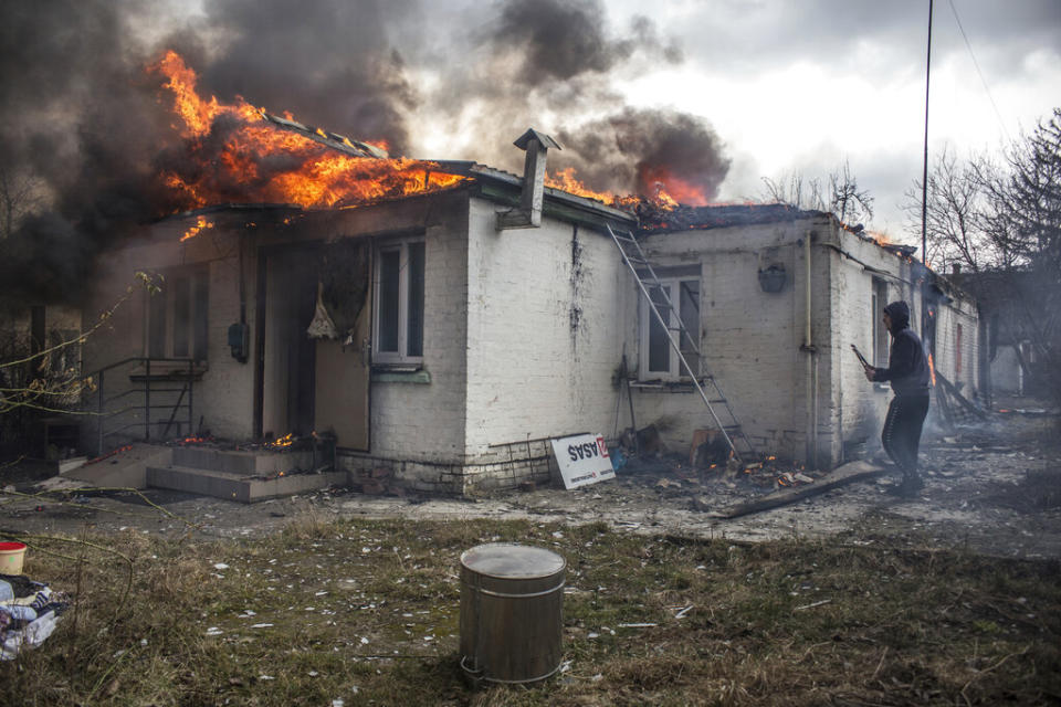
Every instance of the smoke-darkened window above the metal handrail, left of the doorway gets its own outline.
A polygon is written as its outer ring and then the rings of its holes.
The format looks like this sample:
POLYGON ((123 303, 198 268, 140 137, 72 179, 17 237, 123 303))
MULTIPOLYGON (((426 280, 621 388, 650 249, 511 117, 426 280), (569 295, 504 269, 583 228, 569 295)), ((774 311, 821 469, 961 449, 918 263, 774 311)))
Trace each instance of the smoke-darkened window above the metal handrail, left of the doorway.
POLYGON ((147 355, 206 361, 209 271, 200 267, 166 273, 160 287, 148 300, 147 355))

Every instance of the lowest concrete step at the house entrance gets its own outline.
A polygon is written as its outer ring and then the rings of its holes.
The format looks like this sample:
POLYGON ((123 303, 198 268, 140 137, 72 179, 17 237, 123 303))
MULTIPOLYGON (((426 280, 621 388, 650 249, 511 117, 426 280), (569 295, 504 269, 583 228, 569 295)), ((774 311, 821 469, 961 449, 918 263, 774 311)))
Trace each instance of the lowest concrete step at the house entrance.
POLYGON ((244 504, 344 485, 346 481, 346 472, 270 475, 269 478, 262 478, 251 474, 176 465, 147 468, 149 488, 169 488, 244 504))

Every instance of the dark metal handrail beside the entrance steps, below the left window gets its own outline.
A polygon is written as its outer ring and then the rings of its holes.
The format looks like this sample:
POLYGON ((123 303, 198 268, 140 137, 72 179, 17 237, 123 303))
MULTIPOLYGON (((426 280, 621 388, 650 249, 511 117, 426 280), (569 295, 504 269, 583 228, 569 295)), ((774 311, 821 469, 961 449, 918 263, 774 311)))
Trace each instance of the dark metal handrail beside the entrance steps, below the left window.
MULTIPOLYGON (((133 357, 129 357, 129 358, 122 359, 120 361, 116 361, 116 362, 114 362, 114 363, 111 363, 111 365, 108 365, 108 366, 104 366, 103 368, 101 368, 101 369, 98 369, 98 370, 90 373, 90 377, 96 379, 96 390, 97 390, 97 395, 96 395, 96 414, 97 414, 97 421, 98 421, 98 425, 97 425, 97 452, 98 452, 99 454, 103 454, 103 452, 104 452, 104 446, 103 446, 103 445, 104 445, 104 440, 106 440, 106 437, 108 437, 108 436, 111 436, 111 435, 113 435, 113 434, 117 434, 117 433, 119 433, 119 432, 124 432, 124 431, 129 430, 129 429, 132 429, 132 428, 144 428, 144 440, 145 440, 145 441, 150 441, 150 439, 151 439, 151 411, 153 411, 153 410, 172 410, 172 413, 169 415, 169 421, 168 421, 167 424, 166 424, 166 433, 168 433, 170 425, 172 425, 172 423, 176 421, 177 412, 180 411, 180 410, 187 409, 187 411, 188 411, 188 416, 187 416, 187 419, 180 420, 180 422, 181 422, 181 423, 187 422, 187 423, 188 423, 188 429, 190 430, 190 429, 191 429, 191 424, 192 424, 192 415, 193 415, 193 407, 192 407, 193 399, 192 399, 192 393, 193 393, 193 388, 195 388, 195 382, 196 382, 196 381, 195 381, 195 365, 196 365, 195 359, 190 359, 190 358, 151 358, 151 357, 146 357, 146 356, 133 356, 133 357), (113 371, 113 370, 118 369, 118 368, 124 367, 124 366, 128 366, 128 365, 130 365, 130 363, 140 363, 140 365, 144 366, 144 377, 143 377, 143 380, 133 380, 134 383, 140 384, 141 388, 133 388, 133 389, 123 391, 123 392, 120 392, 120 393, 117 393, 117 394, 115 394, 115 395, 112 395, 111 398, 107 398, 107 397, 106 397, 106 393, 105 393, 105 390, 106 390, 106 389, 105 389, 105 382, 106 382, 106 378, 107 378, 107 377, 106 377, 106 372, 107 372, 107 371, 113 371), (153 388, 153 386, 151 386, 151 365, 153 365, 153 363, 181 363, 182 366, 187 365, 187 369, 181 368, 181 369, 177 369, 177 370, 172 370, 172 371, 169 371, 169 372, 168 372, 170 376, 180 376, 180 377, 183 377, 183 378, 180 378, 180 379, 178 379, 178 380, 176 380, 176 381, 175 381, 172 378, 170 378, 170 379, 166 380, 165 383, 164 383, 164 384, 166 384, 166 383, 172 384, 174 382, 178 382, 178 383, 182 383, 182 384, 181 384, 179 388, 168 388, 168 387, 167 387, 167 388, 158 388, 158 387, 154 387, 154 388, 153 388), (174 404, 151 404, 151 393, 153 393, 153 392, 155 392, 156 394, 157 394, 157 393, 180 393, 180 397, 177 399, 177 402, 174 403, 174 404), (127 398, 127 397, 133 395, 133 394, 143 394, 143 395, 144 395, 144 404, 141 404, 141 405, 126 405, 126 407, 122 408, 120 410, 111 410, 111 411, 108 411, 108 410, 106 409, 107 404, 109 404, 109 403, 112 403, 112 402, 114 402, 114 401, 116 401, 116 400, 120 400, 120 399, 123 399, 123 398, 127 398), (187 402, 185 402, 185 394, 188 395, 188 401, 187 401, 187 402), (114 430, 109 430, 109 431, 108 431, 108 430, 106 429, 106 423, 107 423, 108 420, 112 420, 112 419, 114 419, 114 418, 116 418, 116 416, 118 416, 118 415, 123 415, 123 414, 126 414, 126 413, 128 413, 128 412, 138 411, 138 410, 141 410, 141 411, 144 411, 144 413, 145 413, 145 414, 144 414, 144 421, 143 421, 143 422, 127 422, 127 423, 125 423, 125 424, 123 424, 123 425, 120 425, 120 426, 118 426, 118 428, 116 428, 116 429, 114 429, 114 430)), ((158 370, 158 369, 156 369, 156 370, 158 370)), ((139 378, 139 376, 137 376, 137 378, 139 378)), ((130 380, 132 380, 132 379, 133 379, 133 377, 130 376, 130 380)), ((164 433, 164 434, 165 434, 165 433, 164 433)))

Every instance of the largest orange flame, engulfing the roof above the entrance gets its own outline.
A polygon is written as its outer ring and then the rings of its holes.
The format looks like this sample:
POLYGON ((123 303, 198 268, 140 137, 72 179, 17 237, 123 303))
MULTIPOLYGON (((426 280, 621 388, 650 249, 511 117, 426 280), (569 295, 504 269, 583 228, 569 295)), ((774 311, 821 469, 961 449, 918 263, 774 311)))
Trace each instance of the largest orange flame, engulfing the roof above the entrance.
MULTIPOLYGON (((162 86, 172 94, 179 119, 172 127, 192 158, 190 168, 162 175, 164 183, 177 191, 188 208, 230 201, 358 205, 439 191, 466 179, 441 171, 437 162, 359 157, 330 149, 309 136, 358 148, 348 138, 319 128, 303 134, 274 125, 264 110, 239 96, 232 105, 214 96, 204 99, 196 89, 195 71, 176 52, 167 52, 149 70, 167 78, 162 86), (220 124, 222 117, 227 120, 220 124), (220 147, 214 147, 219 143, 220 147)), ((284 117, 292 119, 290 114, 284 117)), ((195 233, 188 238, 191 235, 195 233)))

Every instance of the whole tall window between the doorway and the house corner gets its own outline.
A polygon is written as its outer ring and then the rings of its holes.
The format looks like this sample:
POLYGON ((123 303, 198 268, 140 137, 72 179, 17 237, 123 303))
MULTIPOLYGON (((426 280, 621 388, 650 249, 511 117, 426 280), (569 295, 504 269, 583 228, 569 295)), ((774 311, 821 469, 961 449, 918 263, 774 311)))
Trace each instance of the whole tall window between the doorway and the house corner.
POLYGON ((374 360, 410 365, 423 360, 423 240, 391 241, 376 257, 374 360))

